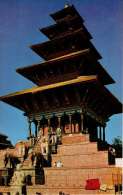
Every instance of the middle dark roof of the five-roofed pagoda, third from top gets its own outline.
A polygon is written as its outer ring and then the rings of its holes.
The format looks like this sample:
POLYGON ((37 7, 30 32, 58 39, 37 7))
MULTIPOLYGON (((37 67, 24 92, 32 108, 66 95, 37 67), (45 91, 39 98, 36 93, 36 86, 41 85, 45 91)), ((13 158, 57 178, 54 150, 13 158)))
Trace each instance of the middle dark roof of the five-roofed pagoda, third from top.
POLYGON ((82 28, 73 32, 66 32, 60 37, 44 43, 35 44, 30 47, 45 60, 50 60, 70 52, 88 48, 92 50, 96 59, 101 59, 100 54, 93 46, 93 44, 88 40, 82 28))

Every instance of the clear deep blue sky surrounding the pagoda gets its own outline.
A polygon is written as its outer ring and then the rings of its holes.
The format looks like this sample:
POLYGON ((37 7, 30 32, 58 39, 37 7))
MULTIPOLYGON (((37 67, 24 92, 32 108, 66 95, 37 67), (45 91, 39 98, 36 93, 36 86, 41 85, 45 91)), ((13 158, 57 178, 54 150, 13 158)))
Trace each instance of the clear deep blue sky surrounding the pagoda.
MULTIPOLYGON (((15 70, 42 61, 29 46, 47 40, 39 28, 53 24, 49 14, 67 2, 84 18, 92 43, 103 57, 100 62, 116 81, 107 87, 123 102, 122 0, 0 0, 0 96, 34 86, 15 70)), ((0 102, 0 132, 13 144, 26 139, 28 123, 23 112, 0 102)), ((122 115, 117 114, 107 123, 107 141, 121 134, 122 115)))

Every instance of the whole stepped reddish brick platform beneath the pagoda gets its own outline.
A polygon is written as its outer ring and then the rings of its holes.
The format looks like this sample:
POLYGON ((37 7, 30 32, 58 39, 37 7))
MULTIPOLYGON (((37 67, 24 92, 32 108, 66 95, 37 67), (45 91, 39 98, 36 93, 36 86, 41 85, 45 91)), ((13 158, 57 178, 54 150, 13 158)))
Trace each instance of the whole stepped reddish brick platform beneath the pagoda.
POLYGON ((58 146, 57 154, 52 155, 52 167, 44 168, 45 184, 27 187, 30 195, 69 195, 113 194, 114 190, 100 192, 85 190, 86 180, 98 178, 101 184, 113 185, 112 174, 115 167, 108 165, 107 151, 98 151, 97 143, 90 142, 88 135, 66 135, 58 146), (62 167, 54 166, 57 161, 62 167))

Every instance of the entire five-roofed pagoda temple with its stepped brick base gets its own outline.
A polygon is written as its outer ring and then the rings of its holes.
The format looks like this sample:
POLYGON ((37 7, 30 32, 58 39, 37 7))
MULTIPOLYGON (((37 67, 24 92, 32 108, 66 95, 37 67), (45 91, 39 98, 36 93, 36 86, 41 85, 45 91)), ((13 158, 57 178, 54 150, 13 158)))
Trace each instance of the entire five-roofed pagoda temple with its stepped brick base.
POLYGON ((30 46, 44 61, 16 70, 37 86, 0 97, 23 111, 29 126, 27 141, 8 149, 10 164, 2 155, 0 169, 11 170, 11 178, 0 179, 0 194, 113 194, 121 178, 114 184, 119 172, 109 157, 105 127, 122 112, 106 88, 115 81, 99 62, 76 8, 66 5, 50 16, 55 23, 40 29, 48 41, 30 46), (88 189, 89 179, 97 188, 88 189))

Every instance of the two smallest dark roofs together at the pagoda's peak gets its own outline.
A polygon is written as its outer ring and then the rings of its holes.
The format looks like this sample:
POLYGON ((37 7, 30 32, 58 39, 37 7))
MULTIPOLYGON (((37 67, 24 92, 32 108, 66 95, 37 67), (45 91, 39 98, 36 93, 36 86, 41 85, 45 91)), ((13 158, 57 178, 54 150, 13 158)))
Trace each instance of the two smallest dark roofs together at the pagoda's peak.
POLYGON ((83 29, 88 39, 92 38, 86 27, 83 25, 84 20, 74 6, 68 6, 67 8, 51 14, 51 17, 56 20, 56 23, 40 29, 40 31, 49 39, 54 39, 61 36, 65 32, 74 31, 80 28, 83 29))

